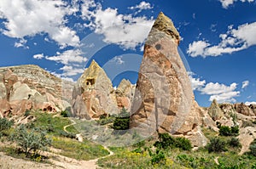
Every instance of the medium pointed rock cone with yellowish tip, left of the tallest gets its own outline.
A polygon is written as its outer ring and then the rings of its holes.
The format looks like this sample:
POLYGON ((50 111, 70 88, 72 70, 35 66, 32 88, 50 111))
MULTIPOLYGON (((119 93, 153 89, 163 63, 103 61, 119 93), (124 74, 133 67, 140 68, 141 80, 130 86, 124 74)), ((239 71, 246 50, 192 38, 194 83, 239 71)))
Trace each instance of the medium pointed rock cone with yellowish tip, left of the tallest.
POLYGON ((112 82, 94 60, 73 89, 72 107, 73 115, 87 120, 119 112, 112 82))

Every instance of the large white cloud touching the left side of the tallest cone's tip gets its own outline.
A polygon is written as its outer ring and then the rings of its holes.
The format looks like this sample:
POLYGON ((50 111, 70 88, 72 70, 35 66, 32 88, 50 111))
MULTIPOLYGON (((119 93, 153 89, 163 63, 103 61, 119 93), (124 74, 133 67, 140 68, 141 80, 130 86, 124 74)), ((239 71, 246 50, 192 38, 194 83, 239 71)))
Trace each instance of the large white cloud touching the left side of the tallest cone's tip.
POLYGON ((100 3, 94 1, 85 1, 81 11, 82 18, 89 21, 85 26, 103 35, 105 42, 118 44, 125 49, 142 45, 154 24, 153 18, 119 14, 117 8, 103 9, 100 3))

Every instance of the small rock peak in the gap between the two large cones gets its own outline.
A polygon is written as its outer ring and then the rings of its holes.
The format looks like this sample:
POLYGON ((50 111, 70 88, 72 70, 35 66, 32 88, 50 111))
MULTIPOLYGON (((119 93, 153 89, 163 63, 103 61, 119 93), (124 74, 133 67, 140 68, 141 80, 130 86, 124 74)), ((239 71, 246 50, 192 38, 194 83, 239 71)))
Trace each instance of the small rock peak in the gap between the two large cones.
POLYGON ((115 90, 117 104, 119 109, 125 108, 131 111, 131 101, 135 93, 135 86, 129 80, 123 79, 119 83, 119 87, 115 90))

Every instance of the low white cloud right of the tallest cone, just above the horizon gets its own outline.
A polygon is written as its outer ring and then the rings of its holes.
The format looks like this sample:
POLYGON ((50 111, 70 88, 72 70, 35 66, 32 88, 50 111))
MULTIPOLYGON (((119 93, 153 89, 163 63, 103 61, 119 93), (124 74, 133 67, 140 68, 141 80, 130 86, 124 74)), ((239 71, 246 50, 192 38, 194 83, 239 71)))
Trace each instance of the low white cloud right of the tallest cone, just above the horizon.
POLYGON ((201 92, 201 94, 207 94, 210 96, 209 101, 216 99, 218 103, 224 102, 236 102, 236 97, 240 92, 237 91, 237 83, 230 85, 220 84, 218 82, 209 82, 201 80, 201 78, 195 78, 195 74, 189 73, 189 78, 192 83, 193 90, 201 92))

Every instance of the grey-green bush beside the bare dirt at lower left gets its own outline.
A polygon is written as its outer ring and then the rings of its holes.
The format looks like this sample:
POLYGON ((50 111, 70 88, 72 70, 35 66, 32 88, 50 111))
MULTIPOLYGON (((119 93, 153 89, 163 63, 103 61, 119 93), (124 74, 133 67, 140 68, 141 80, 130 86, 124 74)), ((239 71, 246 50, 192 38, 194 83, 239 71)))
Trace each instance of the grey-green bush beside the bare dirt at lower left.
POLYGON ((45 132, 33 129, 29 132, 24 125, 16 128, 12 136, 12 140, 20 147, 20 149, 29 155, 32 151, 38 154, 38 150, 45 150, 46 146, 51 144, 51 140, 46 138, 45 132))

